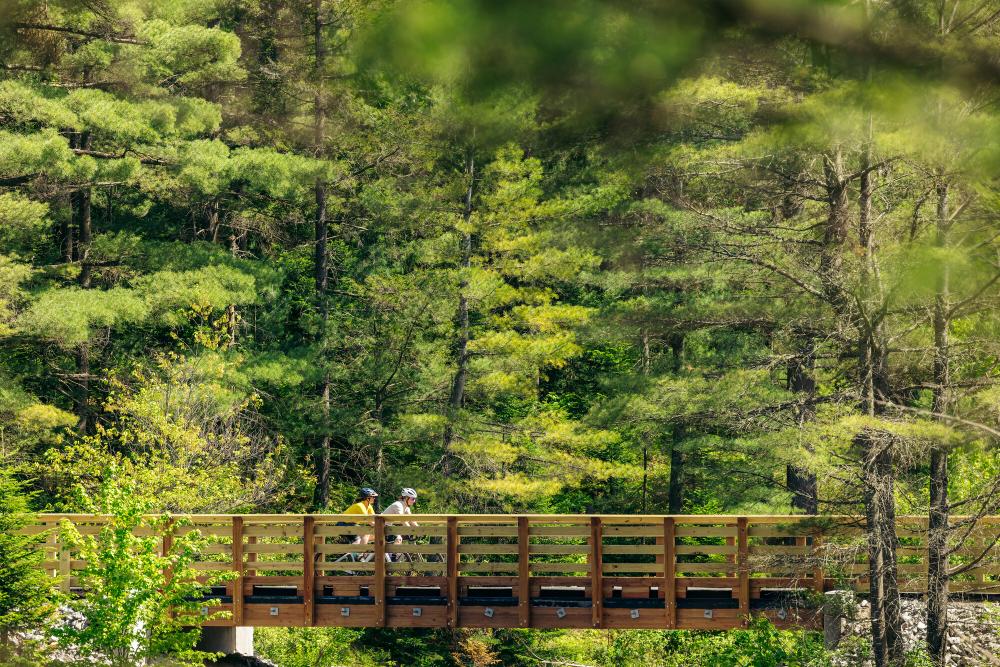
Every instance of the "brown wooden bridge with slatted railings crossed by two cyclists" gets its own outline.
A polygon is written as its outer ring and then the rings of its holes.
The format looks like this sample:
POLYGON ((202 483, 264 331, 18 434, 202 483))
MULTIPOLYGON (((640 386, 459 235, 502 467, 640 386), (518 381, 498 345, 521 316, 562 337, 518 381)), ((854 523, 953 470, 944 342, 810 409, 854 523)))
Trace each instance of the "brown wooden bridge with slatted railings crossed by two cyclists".
MULTIPOLYGON (((850 517, 413 519, 419 527, 385 516, 194 515, 171 530, 205 536, 199 570, 234 573, 212 590, 221 604, 203 609, 228 612, 215 626, 721 630, 763 616, 817 628, 819 594, 867 589, 863 526, 850 517), (362 535, 369 544, 350 543, 362 535)), ((48 514, 29 529, 46 531, 45 567, 75 590, 85 563, 52 530, 67 520, 97 534, 107 518, 48 514)), ((898 520, 904 592, 924 588, 926 532, 926 517, 898 520)), ((1000 517, 983 519, 955 551, 954 564, 973 566, 953 591, 1000 593, 998 532, 1000 517)), ((159 538, 169 549, 171 534, 159 538)))

